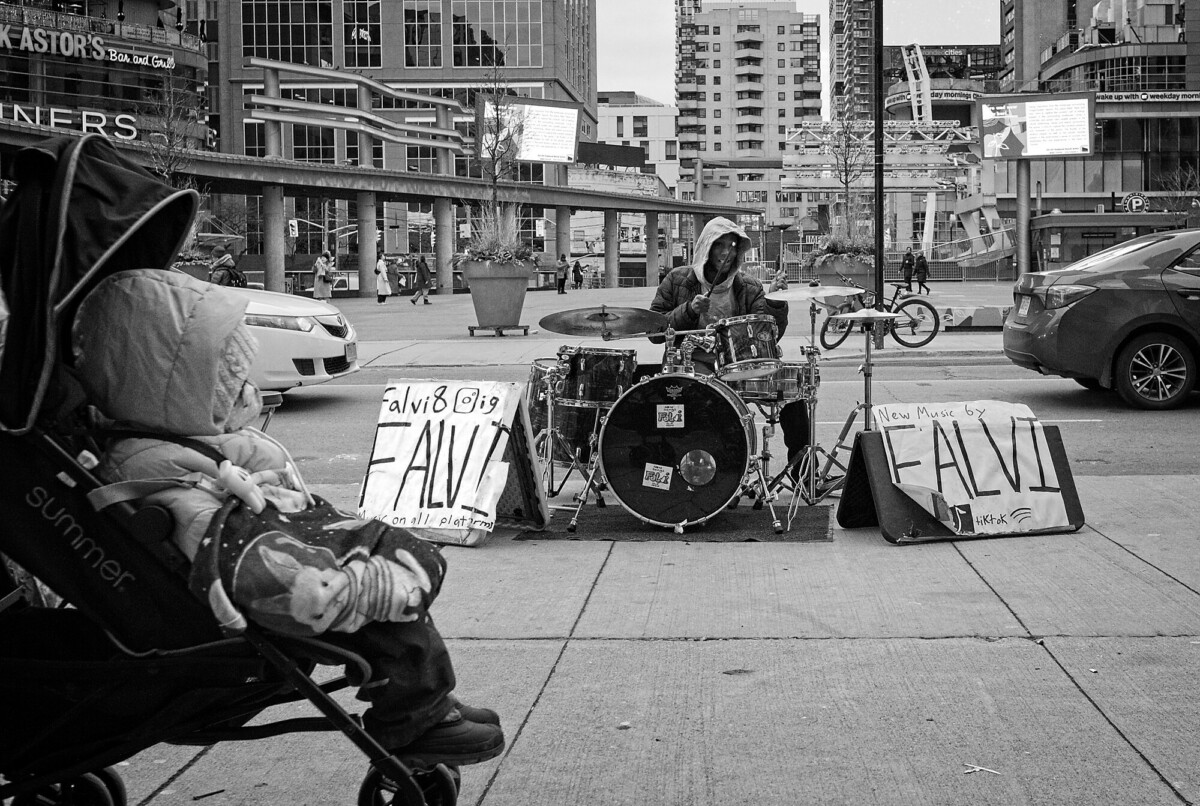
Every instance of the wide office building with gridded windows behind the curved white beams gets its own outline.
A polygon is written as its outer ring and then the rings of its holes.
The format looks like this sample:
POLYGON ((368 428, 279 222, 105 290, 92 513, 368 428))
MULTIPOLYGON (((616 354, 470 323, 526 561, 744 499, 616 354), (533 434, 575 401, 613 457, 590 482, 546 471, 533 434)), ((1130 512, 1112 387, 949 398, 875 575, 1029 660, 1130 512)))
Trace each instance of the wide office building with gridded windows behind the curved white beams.
MULTIPOLYGON (((578 138, 596 136, 596 0, 241 0, 217 4, 221 31, 216 60, 223 66, 217 101, 220 148, 230 154, 265 154, 264 126, 247 108, 247 94, 264 90, 262 71, 248 58, 354 71, 388 86, 452 97, 463 113, 454 125, 473 140, 475 95, 506 89, 516 95, 565 102, 581 109, 578 138)), ((281 96, 294 101, 356 107, 353 85, 283 80, 281 96)), ((374 98, 373 113, 404 124, 433 122, 419 102, 374 98)), ((331 127, 284 125, 283 154, 299 161, 353 164, 358 136, 331 127)), ((373 143, 373 163, 390 170, 438 173, 433 149, 373 143)), ((469 155, 455 158, 454 172, 481 175, 469 155)), ((518 181, 565 185, 558 166, 522 163, 518 181)), ((354 205, 319 197, 289 200, 300 223, 302 251, 320 251, 330 233, 353 237, 354 205), (305 225, 304 222, 313 222, 305 225)), ((248 218, 254 219, 250 200, 248 218)), ((524 210, 529 240, 544 240, 541 210, 524 210)), ((385 252, 431 252, 433 212, 428 204, 382 205, 385 252)), ((254 231, 251 228, 251 249, 254 231)), ((353 252, 354 243, 332 236, 353 252)))

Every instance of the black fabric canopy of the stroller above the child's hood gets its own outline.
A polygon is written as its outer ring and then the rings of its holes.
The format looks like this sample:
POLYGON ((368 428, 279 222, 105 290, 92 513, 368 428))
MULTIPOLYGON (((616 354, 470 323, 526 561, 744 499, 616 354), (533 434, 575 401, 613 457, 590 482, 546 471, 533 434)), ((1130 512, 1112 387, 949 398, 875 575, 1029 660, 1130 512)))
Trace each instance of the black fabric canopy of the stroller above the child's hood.
POLYGON ((13 161, 0 207, 0 431, 37 420, 74 309, 101 278, 167 269, 199 204, 121 156, 100 134, 54 138, 13 161))

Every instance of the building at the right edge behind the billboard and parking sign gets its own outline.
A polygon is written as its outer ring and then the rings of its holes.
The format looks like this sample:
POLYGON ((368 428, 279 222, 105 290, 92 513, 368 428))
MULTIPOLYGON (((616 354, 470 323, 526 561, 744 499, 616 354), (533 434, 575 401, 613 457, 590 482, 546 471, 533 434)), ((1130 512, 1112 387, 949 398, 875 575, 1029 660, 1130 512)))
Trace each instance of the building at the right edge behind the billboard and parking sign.
MULTIPOLYGON (((1042 207, 1114 210, 1142 193, 1166 209, 1200 196, 1180 186, 1200 170, 1200 20, 1182 0, 1006 0, 1001 19, 1007 40, 1032 42, 1033 26, 1044 46, 1031 59, 1003 43, 1004 91, 1096 94, 1092 156, 1031 161, 1042 207)), ((989 168, 1003 213, 1015 205, 1016 162, 989 168)))

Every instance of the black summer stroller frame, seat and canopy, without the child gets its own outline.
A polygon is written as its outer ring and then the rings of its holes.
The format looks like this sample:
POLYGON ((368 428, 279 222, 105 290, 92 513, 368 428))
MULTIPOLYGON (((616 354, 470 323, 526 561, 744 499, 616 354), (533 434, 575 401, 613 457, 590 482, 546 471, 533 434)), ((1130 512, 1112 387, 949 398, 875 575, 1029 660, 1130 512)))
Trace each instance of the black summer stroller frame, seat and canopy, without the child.
POLYGON ((223 634, 187 588, 170 515, 88 493, 100 447, 65 365, 80 300, 114 272, 167 269, 198 196, 151 178, 100 136, 23 150, 0 207, 0 554, 64 606, 34 603, 0 561, 0 801, 122 806, 116 764, 158 742, 210 745, 341 730, 370 762, 360 804, 446 806, 457 769, 414 770, 317 684, 318 664, 370 664, 251 625, 223 634), (307 699, 322 716, 247 723, 307 699))

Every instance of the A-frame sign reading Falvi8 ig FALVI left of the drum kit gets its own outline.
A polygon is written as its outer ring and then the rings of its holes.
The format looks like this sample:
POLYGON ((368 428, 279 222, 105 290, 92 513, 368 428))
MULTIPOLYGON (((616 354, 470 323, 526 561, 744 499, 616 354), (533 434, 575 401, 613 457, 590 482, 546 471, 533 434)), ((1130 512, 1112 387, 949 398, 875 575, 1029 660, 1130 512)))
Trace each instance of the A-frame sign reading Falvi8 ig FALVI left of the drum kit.
POLYGON ((544 527, 521 384, 392 380, 384 390, 359 517, 475 546, 499 519, 544 527), (514 468, 514 464, 520 467, 514 468), (517 473, 511 473, 517 470, 517 473), (502 500, 512 498, 508 506, 502 500))

